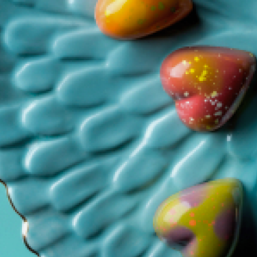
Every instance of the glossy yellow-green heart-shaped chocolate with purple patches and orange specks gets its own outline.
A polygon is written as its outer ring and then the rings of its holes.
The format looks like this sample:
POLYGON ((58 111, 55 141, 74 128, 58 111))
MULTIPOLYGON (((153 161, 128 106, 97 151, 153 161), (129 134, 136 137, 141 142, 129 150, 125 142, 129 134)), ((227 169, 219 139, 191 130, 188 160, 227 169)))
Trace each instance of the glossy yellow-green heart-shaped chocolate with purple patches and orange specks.
POLYGON ((156 211, 154 229, 184 257, 228 257, 238 239, 242 204, 239 180, 200 184, 166 199, 156 211))

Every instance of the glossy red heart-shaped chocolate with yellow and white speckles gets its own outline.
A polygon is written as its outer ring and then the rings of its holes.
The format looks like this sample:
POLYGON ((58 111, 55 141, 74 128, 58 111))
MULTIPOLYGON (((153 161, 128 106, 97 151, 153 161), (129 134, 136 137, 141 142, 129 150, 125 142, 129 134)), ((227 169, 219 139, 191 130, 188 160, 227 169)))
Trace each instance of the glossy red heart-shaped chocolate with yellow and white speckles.
POLYGON ((197 131, 217 130, 232 117, 252 80, 256 58, 224 47, 185 47, 162 63, 164 90, 182 122, 197 131))

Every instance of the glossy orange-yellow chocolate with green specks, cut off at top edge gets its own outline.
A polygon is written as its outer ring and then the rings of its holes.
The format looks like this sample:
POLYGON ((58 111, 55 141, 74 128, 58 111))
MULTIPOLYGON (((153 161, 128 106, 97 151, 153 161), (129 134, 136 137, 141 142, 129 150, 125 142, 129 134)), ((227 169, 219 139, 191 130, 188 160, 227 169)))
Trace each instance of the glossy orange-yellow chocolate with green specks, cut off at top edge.
POLYGON ((103 34, 134 39, 168 27, 192 8, 191 0, 99 0, 95 19, 103 34))

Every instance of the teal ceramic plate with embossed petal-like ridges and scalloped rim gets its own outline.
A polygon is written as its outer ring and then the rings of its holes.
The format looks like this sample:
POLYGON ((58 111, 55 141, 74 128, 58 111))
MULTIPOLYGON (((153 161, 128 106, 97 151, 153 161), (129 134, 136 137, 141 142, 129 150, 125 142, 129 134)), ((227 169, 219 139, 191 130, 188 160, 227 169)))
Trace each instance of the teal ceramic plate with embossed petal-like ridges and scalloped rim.
POLYGON ((42 257, 178 257, 154 234, 160 202, 232 177, 246 203, 233 257, 256 256, 256 78, 228 125, 197 133, 159 69, 188 45, 257 55, 257 2, 195 0, 186 19, 134 41, 101 34, 95 3, 0 0, 0 178, 27 243, 42 257))

